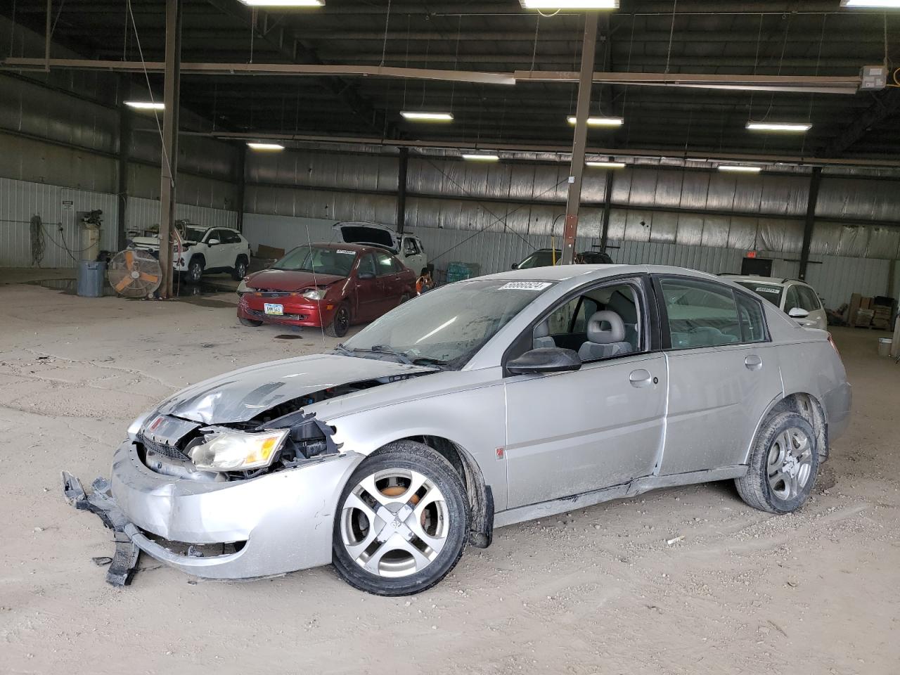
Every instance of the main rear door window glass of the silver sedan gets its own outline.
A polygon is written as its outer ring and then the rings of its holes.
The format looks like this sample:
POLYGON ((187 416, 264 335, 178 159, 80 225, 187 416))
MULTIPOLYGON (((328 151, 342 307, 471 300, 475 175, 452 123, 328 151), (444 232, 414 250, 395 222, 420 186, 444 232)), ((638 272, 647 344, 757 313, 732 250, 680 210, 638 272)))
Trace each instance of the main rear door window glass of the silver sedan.
POLYGON ((743 342, 734 291, 698 279, 662 278, 671 347, 694 349, 743 342))

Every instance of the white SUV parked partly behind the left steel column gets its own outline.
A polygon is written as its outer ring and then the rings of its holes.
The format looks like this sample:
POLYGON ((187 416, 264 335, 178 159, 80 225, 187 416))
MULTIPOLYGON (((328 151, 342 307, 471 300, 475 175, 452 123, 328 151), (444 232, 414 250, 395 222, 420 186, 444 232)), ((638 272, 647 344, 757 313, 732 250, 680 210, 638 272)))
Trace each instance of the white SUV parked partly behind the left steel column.
MULTIPOLYGON (((240 280, 250 264, 250 243, 237 229, 204 228, 184 223, 179 225, 181 242, 172 242, 172 266, 184 273, 192 284, 199 284, 204 273, 230 272, 240 280)), ((159 253, 159 237, 135 237, 135 248, 159 253)))

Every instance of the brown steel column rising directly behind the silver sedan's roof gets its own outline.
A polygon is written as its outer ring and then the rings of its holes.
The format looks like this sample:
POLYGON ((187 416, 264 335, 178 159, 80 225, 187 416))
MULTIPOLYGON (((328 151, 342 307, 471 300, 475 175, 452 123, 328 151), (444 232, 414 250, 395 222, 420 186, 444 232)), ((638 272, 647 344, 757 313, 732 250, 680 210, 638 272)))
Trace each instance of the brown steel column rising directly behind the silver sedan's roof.
POLYGON ((578 108, 575 112, 575 138, 572 142, 572 168, 569 171, 569 196, 565 206, 563 265, 575 258, 578 235, 578 207, 581 203, 581 178, 584 175, 584 148, 588 140, 588 109, 594 76, 594 51, 597 46, 597 13, 584 16, 584 40, 581 41, 581 74, 578 81, 578 108))

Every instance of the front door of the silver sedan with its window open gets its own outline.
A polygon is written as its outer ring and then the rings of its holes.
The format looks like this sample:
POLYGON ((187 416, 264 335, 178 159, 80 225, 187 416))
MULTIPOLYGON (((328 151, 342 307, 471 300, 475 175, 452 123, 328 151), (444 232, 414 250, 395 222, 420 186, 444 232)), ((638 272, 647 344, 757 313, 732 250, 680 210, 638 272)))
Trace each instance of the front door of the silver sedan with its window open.
MULTIPOLYGON (((653 345, 652 331, 646 330, 649 312, 643 280, 615 284, 630 291, 635 315, 641 317, 635 320, 639 329, 633 351, 589 360, 575 372, 512 375, 505 380, 509 508, 653 473, 662 450, 665 356, 653 345)), ((591 286, 576 296, 609 285, 591 286)), ((560 302, 536 322, 536 328, 546 320, 558 324, 571 317, 573 299, 579 300, 570 296, 560 302)))

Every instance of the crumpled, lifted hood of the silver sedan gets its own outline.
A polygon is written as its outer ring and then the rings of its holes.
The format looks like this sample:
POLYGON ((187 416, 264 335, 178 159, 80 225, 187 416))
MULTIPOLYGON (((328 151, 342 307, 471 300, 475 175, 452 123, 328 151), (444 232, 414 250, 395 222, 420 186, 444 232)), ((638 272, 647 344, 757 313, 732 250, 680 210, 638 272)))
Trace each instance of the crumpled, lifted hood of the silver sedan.
POLYGON ((202 424, 246 422, 286 401, 329 387, 435 370, 335 354, 299 356, 193 384, 163 401, 155 412, 202 424))

